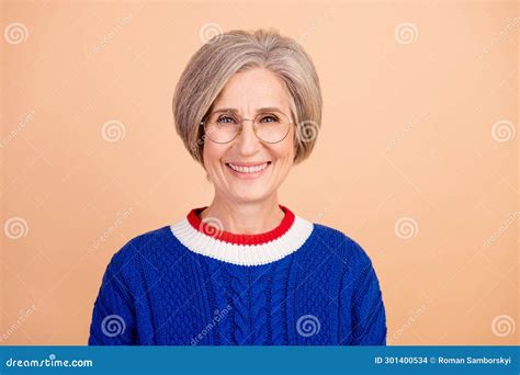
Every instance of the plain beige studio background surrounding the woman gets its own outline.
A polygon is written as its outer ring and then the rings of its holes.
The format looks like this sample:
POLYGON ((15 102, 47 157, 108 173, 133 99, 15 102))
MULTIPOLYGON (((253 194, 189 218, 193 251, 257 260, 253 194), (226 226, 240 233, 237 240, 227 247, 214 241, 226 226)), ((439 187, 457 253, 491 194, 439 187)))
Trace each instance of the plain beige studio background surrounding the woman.
POLYGON ((1 14, 1 343, 86 344, 112 254, 211 202, 174 133, 174 84, 218 27, 265 26, 313 56, 325 100, 281 203, 369 252, 388 344, 518 343, 517 2, 3 1, 1 14))

